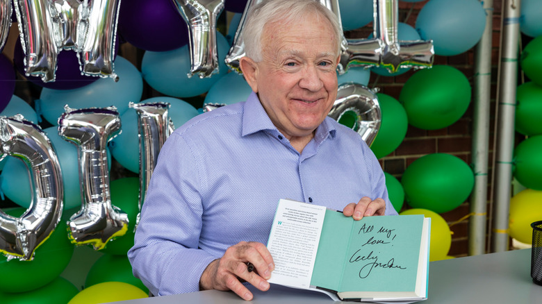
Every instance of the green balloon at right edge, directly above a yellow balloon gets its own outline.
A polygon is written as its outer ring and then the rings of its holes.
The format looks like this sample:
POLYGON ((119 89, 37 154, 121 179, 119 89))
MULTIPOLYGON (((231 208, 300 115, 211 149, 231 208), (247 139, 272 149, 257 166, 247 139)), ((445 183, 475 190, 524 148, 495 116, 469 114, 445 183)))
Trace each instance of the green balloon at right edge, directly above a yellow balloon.
POLYGON ((529 189, 542 190, 542 135, 520 142, 514 150, 514 176, 529 189))

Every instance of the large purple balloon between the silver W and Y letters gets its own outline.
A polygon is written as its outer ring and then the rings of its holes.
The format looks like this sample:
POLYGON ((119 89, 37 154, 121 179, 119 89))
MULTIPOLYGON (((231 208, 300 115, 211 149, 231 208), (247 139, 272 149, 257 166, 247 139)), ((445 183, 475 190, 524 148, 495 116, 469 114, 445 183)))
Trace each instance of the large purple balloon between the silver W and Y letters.
POLYGON ((121 1, 117 31, 146 51, 172 51, 188 44, 188 26, 172 0, 121 1))

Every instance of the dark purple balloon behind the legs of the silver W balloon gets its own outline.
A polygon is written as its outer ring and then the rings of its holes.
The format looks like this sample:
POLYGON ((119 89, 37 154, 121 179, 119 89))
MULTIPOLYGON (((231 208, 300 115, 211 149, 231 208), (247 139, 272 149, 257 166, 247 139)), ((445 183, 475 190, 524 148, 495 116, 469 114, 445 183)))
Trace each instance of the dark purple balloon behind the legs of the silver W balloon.
POLYGON ((53 90, 72 90, 84 87, 98 80, 99 77, 81 75, 79 59, 75 51, 60 51, 56 57, 55 81, 44 83, 39 76, 24 75, 24 51, 21 46, 21 40, 15 42, 13 50, 13 62, 17 71, 21 73, 28 81, 35 83, 40 87, 47 87, 53 90))

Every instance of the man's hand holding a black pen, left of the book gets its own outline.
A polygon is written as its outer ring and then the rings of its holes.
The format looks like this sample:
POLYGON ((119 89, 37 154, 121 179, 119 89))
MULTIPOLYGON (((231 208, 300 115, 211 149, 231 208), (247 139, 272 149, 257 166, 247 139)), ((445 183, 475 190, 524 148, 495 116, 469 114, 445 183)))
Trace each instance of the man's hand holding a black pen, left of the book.
POLYGON ((269 289, 273 258, 268 248, 258 242, 240 242, 227 249, 224 255, 211 262, 199 280, 201 290, 231 290, 244 300, 252 300, 252 293, 240 280, 245 280, 261 291, 269 289), (254 265, 248 271, 247 262, 254 265))

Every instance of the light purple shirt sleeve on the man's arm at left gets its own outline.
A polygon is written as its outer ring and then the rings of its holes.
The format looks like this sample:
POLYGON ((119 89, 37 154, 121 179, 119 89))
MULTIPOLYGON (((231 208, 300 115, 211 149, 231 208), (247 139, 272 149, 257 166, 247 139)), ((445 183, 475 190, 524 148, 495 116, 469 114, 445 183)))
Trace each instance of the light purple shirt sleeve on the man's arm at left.
POLYGON ((128 257, 134 276, 155 296, 198 291, 203 271, 217 258, 198 248, 200 163, 181 135, 173 133, 151 176, 128 257))

